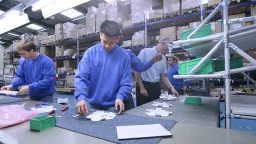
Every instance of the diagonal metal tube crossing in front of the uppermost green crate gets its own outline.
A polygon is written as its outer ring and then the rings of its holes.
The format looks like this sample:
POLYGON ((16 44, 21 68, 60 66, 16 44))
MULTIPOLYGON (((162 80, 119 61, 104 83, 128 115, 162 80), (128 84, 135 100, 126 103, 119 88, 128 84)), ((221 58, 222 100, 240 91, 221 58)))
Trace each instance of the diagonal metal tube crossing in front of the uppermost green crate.
POLYGON ((205 20, 203 20, 201 24, 189 36, 187 36, 187 39, 191 39, 191 37, 193 37, 193 35, 195 35, 195 33, 197 33, 199 29, 203 27, 203 25, 210 21, 210 19, 213 18, 213 16, 215 16, 215 14, 219 12, 221 5, 222 3, 219 3, 219 5, 216 6, 216 8, 209 14, 209 16, 207 16, 205 20))

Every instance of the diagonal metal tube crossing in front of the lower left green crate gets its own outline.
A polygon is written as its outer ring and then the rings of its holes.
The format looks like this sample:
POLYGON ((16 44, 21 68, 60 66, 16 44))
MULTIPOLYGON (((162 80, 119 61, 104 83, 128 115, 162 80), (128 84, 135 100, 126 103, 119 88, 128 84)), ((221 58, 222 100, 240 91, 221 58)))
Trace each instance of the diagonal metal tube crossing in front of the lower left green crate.
POLYGON ((217 43, 212 49, 211 51, 209 51, 209 53, 206 54, 206 56, 203 57, 203 59, 201 61, 199 61, 199 63, 193 68, 191 69, 191 71, 189 72, 189 75, 193 75, 195 73, 195 71, 209 58, 211 57, 211 55, 213 55, 213 53, 215 51, 218 50, 219 46, 221 45, 221 43, 223 43, 223 40, 219 41, 219 43, 217 43))

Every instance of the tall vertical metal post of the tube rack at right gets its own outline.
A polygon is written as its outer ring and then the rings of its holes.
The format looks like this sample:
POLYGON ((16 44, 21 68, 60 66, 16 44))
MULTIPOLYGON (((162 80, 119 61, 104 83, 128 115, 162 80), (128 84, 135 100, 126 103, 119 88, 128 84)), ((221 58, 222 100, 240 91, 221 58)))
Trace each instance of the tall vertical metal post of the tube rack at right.
POLYGON ((226 128, 231 129, 231 106, 230 106, 230 64, 229 64, 229 25, 228 21, 228 0, 223 0, 223 32, 224 32, 224 58, 225 58, 225 104, 226 104, 226 128))

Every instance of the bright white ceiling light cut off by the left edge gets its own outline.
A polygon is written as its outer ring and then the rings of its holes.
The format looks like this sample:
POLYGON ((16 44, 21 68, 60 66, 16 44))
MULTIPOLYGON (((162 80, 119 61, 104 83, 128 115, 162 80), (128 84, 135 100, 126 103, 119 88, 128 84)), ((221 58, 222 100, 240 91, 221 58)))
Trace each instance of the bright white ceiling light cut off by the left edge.
POLYGON ((0 34, 29 23, 29 17, 22 11, 21 4, 0 15, 0 34))

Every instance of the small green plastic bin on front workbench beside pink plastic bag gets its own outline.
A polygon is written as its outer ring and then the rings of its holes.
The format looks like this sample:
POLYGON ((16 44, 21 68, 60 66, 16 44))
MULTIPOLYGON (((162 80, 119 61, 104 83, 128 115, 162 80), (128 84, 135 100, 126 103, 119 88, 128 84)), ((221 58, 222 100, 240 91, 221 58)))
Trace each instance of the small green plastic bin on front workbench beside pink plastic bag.
POLYGON ((30 130, 32 131, 44 131, 48 128, 54 127, 56 125, 56 117, 46 117, 45 115, 40 115, 37 117, 32 117, 29 119, 30 130))

